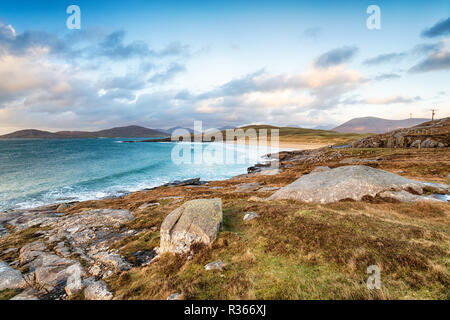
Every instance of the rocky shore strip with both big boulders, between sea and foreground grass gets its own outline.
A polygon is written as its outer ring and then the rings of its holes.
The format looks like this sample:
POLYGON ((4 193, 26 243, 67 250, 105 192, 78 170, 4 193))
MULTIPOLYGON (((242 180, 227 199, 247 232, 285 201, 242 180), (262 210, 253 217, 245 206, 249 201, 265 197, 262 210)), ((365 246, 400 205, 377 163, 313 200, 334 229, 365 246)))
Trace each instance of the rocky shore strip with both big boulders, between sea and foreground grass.
MULTIPOLYGON (((277 201, 283 199, 300 207, 378 201, 440 203, 448 208, 434 196, 450 193, 445 177, 442 183, 425 183, 400 175, 402 170, 388 172, 391 160, 403 154, 383 152, 355 153, 352 148, 281 152, 275 171, 260 164, 227 181, 190 179, 118 199, 0 213, 0 292, 15 300, 127 298, 117 292, 117 285, 125 287, 130 272, 156 270, 167 255, 189 263, 198 259, 199 251, 225 245, 229 240, 218 237, 230 228, 227 212, 242 201, 251 210, 242 212, 239 224, 264 221, 265 207, 273 203, 281 208, 284 205, 277 201), (142 239, 147 240, 139 242, 142 239), (139 245, 130 248, 134 242, 139 245)), ((205 261, 205 271, 227 268, 227 262, 213 257, 205 261)), ((155 297, 179 299, 186 294, 155 297)))

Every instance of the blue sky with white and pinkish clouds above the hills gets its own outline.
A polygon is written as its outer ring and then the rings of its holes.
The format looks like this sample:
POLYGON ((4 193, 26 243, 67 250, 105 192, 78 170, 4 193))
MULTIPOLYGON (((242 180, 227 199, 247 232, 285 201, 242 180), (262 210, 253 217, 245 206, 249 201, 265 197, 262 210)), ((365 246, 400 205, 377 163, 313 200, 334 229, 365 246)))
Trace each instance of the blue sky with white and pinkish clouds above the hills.
POLYGON ((0 134, 442 118, 449 84, 448 0, 0 1, 0 134))

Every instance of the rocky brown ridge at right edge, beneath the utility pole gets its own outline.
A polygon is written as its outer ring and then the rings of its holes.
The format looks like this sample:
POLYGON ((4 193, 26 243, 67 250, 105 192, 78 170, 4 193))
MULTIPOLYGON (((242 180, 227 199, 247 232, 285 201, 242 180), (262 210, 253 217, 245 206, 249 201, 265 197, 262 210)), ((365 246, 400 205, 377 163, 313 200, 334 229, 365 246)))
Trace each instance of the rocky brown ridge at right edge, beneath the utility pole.
POLYGON ((353 142, 353 148, 444 148, 449 146, 450 118, 422 123, 353 142))

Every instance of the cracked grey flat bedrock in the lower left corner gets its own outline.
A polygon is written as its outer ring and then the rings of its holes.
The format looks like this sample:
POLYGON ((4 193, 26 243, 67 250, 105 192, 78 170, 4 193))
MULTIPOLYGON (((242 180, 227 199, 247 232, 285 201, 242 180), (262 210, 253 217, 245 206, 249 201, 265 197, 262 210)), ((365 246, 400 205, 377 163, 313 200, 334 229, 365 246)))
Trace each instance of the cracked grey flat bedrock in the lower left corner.
MULTIPOLYGON (((37 232, 40 240, 22 246, 18 261, 14 262, 28 273, 22 277, 7 264, 1 268, 8 271, 5 281, 14 275, 27 292, 33 292, 16 296, 17 299, 71 297, 94 283, 95 278, 86 282, 91 279, 87 277, 106 278, 131 268, 117 249, 110 248, 114 241, 136 234, 121 228, 134 219, 128 210, 94 209, 70 214, 56 211, 58 206, 0 214, 0 225, 7 224, 13 233, 30 226, 42 228, 37 232)), ((101 282, 95 284, 89 289, 91 296, 112 298, 104 288, 101 282)))

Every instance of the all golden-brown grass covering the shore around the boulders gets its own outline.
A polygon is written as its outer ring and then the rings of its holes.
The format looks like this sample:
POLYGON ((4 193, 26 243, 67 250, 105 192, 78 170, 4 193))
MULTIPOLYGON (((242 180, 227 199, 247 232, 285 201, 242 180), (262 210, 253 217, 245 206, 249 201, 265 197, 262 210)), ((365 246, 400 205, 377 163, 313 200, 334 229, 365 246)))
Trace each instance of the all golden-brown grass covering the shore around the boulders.
MULTIPOLYGON (((450 205, 397 203, 382 199, 308 204, 297 201, 248 201, 272 192, 234 192, 236 185, 259 182, 284 186, 319 165, 340 166, 346 158, 379 159, 379 169, 425 181, 448 183, 449 149, 324 149, 308 160, 280 156, 282 173, 242 176, 192 188, 161 187, 124 198, 87 201, 68 211, 127 209, 135 219, 125 225, 138 233, 111 246, 134 263, 134 253, 159 246, 164 218, 183 202, 220 197, 223 223, 211 246, 196 244, 192 258, 164 254, 149 266, 107 278, 119 299, 442 299, 450 298, 450 205), (291 164, 292 167, 284 167, 291 164), (181 201, 161 198, 182 196, 181 201), (144 203, 161 205, 138 209, 144 203), (245 212, 259 217, 243 221, 245 212), (222 270, 206 271, 214 260, 222 270), (366 286, 367 267, 381 269, 382 288, 366 286)), ((302 153, 301 155, 308 153, 302 153)), ((0 239, 0 252, 35 241, 39 228, 0 239)), ((10 253, 7 261, 17 259, 10 253)), ((9 293, 2 292, 7 295, 9 293)), ((80 297, 81 299, 82 297, 80 297)))

